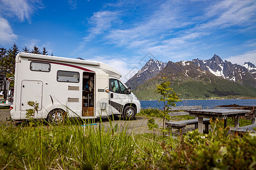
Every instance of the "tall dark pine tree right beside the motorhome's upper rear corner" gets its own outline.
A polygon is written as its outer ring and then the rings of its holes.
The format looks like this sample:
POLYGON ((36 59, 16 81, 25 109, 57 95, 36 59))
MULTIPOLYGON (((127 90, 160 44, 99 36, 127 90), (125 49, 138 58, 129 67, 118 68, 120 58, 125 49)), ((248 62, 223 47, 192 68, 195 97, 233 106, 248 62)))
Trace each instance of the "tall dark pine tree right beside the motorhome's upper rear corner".
POLYGON ((5 67, 6 70, 9 71, 10 73, 15 72, 15 58, 18 53, 19 53, 19 48, 14 42, 13 46, 9 50, 7 50, 7 57, 5 58, 5 61, 3 64, 3 67, 5 67))

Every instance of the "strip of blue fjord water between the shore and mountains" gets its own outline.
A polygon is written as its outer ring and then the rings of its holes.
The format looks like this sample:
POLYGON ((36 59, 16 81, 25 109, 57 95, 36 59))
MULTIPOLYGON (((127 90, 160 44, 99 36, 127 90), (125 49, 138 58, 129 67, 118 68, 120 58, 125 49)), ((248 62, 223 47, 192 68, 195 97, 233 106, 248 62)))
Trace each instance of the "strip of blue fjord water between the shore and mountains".
MULTIPOLYGON (((193 106, 193 105, 201 105, 203 109, 212 109, 216 108, 218 105, 229 105, 229 104, 237 104, 237 105, 250 105, 256 107, 256 99, 234 99, 234 100, 182 100, 176 104, 176 106, 193 106)), ((163 109, 164 104, 163 101, 158 103, 158 100, 141 100, 141 108, 158 108, 163 109)))

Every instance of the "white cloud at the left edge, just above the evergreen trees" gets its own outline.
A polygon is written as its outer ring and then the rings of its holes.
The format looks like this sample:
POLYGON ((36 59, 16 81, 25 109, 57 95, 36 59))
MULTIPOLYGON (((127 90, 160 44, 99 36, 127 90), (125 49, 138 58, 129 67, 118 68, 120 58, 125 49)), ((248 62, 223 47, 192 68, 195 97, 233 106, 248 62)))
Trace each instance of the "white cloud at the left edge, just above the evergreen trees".
POLYGON ((0 17, 0 44, 10 44, 17 39, 6 19, 0 17))

